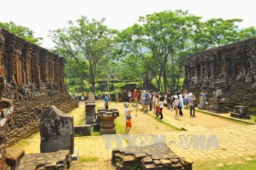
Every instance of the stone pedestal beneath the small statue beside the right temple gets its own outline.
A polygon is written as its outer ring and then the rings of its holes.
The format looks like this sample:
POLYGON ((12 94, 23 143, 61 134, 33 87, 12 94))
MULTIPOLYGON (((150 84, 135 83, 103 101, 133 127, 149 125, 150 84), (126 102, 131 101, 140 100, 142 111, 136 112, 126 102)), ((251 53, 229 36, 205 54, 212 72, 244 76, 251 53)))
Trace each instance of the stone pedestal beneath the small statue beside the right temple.
POLYGON ((229 108, 225 107, 226 99, 215 99, 210 98, 209 101, 212 103, 209 107, 207 107, 207 111, 212 113, 229 113, 229 108))

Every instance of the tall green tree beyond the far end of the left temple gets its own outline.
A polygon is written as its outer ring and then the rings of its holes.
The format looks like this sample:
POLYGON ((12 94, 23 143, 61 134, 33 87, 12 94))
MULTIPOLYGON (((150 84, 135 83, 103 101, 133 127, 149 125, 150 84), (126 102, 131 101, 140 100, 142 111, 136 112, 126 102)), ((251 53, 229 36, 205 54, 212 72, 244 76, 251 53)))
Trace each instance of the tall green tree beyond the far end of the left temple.
POLYGON ((84 76, 88 77, 88 82, 95 92, 97 82, 97 70, 106 61, 112 58, 111 52, 116 46, 115 35, 117 30, 110 29, 103 25, 104 18, 100 21, 92 19, 89 21, 82 16, 74 23, 69 21, 70 27, 50 31, 52 40, 56 43, 56 48, 63 48, 70 57, 77 62, 78 69, 83 69, 84 76), (79 61, 86 59, 89 63, 89 75, 79 61))

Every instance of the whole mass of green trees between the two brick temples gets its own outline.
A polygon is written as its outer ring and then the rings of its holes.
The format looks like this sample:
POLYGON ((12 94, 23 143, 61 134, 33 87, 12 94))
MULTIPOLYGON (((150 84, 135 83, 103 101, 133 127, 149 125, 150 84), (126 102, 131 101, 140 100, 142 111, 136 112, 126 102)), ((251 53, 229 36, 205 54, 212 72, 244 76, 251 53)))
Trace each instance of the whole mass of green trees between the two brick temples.
POLYGON ((238 30, 241 21, 202 21, 188 11, 165 10, 140 16, 137 23, 118 32, 106 27, 104 18, 81 17, 69 21, 69 28, 51 31, 51 38, 63 56, 72 58, 92 91, 98 78, 111 75, 142 82, 148 73, 158 89, 166 90, 180 86, 189 55, 255 37, 254 27, 238 30))

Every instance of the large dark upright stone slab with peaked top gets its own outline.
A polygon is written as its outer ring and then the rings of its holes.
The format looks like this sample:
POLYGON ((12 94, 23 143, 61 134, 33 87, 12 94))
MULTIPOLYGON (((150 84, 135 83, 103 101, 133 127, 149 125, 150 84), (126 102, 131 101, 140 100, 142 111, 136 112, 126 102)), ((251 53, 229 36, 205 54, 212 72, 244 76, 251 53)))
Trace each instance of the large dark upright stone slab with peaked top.
POLYGON ((40 152, 56 152, 69 150, 74 152, 74 119, 51 106, 41 114, 40 124, 40 152))

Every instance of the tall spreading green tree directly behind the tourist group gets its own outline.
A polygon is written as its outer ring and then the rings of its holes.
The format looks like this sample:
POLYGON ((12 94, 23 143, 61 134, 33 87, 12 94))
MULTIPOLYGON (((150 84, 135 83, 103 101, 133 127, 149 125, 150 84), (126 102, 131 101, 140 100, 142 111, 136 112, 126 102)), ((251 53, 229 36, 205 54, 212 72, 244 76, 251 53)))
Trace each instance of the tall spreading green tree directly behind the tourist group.
POLYGON ((123 47, 142 60, 152 71, 158 89, 164 76, 166 90, 166 62, 172 59, 172 66, 175 67, 174 57, 184 50, 189 35, 199 19, 200 17, 182 10, 155 12, 139 17, 141 25, 135 24, 119 36, 123 47), (150 60, 155 61, 156 64, 153 66, 157 66, 158 69, 153 69, 150 60))

